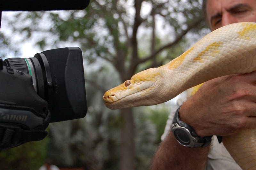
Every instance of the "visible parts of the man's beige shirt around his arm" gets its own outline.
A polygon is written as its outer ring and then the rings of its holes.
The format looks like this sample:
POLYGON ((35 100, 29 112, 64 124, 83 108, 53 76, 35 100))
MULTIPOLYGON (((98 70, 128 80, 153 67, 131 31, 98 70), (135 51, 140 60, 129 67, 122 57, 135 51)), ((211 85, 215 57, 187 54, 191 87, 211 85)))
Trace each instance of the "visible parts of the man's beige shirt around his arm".
MULTIPOLYGON (((185 92, 176 97, 176 101, 172 106, 172 110, 166 122, 164 134, 161 136, 162 141, 170 132, 175 111, 185 100, 187 100, 187 95, 185 92)), ((208 154, 205 170, 241 170, 241 168, 230 156, 223 143, 219 143, 217 137, 213 136, 211 150, 208 154)))

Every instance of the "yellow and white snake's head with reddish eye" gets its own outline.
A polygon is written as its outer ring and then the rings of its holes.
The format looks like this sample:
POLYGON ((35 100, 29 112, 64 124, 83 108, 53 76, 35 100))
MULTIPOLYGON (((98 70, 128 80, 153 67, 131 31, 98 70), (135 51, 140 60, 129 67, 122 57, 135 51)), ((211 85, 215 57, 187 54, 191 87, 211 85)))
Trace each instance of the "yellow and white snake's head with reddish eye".
POLYGON ((157 91, 162 88, 158 68, 149 68, 132 76, 119 86, 108 90, 103 100, 109 109, 121 109, 162 103, 157 91))

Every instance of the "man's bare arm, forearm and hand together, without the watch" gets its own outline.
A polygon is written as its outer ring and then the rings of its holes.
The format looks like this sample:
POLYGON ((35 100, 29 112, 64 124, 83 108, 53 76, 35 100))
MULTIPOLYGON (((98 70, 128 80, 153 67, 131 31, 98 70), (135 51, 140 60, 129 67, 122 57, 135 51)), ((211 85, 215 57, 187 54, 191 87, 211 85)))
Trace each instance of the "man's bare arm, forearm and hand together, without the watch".
MULTIPOLYGON (((180 120, 201 136, 227 136, 256 128, 256 72, 234 74, 207 81, 180 107, 180 120)), ((186 148, 172 132, 159 146, 152 169, 202 169, 208 148, 186 148)))

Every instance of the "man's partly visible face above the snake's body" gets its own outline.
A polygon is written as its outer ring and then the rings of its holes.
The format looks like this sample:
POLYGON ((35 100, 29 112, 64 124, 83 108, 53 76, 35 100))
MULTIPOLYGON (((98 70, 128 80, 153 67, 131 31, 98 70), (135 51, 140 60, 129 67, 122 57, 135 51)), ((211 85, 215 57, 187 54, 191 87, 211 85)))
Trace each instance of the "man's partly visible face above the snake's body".
POLYGON ((235 22, 256 22, 256 0, 207 0, 206 11, 212 31, 235 22))

